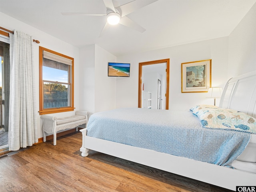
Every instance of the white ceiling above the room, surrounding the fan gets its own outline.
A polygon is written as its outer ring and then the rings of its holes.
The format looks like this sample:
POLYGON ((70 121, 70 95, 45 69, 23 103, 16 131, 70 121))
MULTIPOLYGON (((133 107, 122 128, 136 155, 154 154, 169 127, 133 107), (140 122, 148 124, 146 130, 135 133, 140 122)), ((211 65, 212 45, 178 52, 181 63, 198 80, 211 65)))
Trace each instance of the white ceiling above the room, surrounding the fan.
POLYGON ((97 44, 120 56, 228 36, 255 2, 158 0, 127 15, 146 29, 144 33, 118 24, 101 35, 106 16, 63 16, 61 12, 105 14, 103 0, 0 0, 0 12, 78 48, 97 44))

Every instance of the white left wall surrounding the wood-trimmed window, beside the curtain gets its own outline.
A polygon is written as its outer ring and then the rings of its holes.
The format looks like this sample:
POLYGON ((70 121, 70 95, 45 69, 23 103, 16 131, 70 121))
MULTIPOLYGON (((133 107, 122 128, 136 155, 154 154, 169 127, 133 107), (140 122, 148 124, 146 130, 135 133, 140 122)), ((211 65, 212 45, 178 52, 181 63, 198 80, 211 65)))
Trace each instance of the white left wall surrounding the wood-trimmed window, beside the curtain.
MULTIPOLYGON (((50 50, 54 50, 56 52, 59 52, 61 54, 70 56, 74 58, 74 74, 78 74, 79 72, 79 49, 63 42, 53 36, 50 36, 49 34, 46 34, 36 28, 33 28, 32 26, 29 26, 28 24, 25 24, 23 22, 20 22, 19 20, 16 20, 6 14, 3 14, 0 12, 0 26, 4 27, 9 30, 18 30, 25 32, 26 34, 29 34, 33 36, 34 39, 39 40, 40 44, 34 43, 33 46, 33 52, 34 52, 34 68, 35 68, 35 80, 36 80, 36 110, 39 111, 39 46, 48 48, 50 50)), ((74 107, 76 110, 79 110, 79 78, 78 76, 74 76, 74 107)), ((62 113, 56 113, 52 114, 57 117, 59 116, 70 116, 73 115, 74 112, 62 112, 62 113)), ((38 126, 38 138, 42 138, 42 122, 40 120, 40 115, 38 113, 37 116, 37 126, 38 126)))

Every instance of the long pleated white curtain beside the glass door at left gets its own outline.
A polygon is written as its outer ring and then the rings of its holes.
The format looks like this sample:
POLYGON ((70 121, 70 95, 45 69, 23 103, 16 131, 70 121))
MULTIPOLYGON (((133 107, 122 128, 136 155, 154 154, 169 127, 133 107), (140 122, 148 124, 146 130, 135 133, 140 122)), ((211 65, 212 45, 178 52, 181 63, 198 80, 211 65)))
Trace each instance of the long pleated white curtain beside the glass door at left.
POLYGON ((38 142, 32 43, 28 34, 10 34, 10 151, 38 142))

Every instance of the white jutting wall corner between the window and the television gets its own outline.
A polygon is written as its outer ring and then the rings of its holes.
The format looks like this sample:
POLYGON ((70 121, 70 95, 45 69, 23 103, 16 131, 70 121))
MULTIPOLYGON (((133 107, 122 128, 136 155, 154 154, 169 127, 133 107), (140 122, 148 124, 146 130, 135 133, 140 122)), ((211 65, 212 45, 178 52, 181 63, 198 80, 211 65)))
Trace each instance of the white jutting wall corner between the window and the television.
POLYGON ((80 108, 89 115, 116 108, 116 77, 108 77, 108 62, 116 56, 98 45, 80 48, 80 108))

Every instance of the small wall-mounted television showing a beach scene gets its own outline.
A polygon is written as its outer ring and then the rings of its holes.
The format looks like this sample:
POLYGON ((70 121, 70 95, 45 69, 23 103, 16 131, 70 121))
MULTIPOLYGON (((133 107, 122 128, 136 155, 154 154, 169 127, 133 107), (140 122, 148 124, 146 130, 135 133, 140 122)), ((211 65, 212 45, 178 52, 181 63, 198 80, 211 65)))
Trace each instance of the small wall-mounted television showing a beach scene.
POLYGON ((108 76, 130 77, 130 63, 108 62, 108 76))

